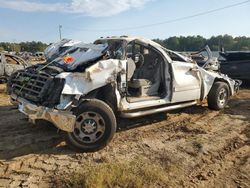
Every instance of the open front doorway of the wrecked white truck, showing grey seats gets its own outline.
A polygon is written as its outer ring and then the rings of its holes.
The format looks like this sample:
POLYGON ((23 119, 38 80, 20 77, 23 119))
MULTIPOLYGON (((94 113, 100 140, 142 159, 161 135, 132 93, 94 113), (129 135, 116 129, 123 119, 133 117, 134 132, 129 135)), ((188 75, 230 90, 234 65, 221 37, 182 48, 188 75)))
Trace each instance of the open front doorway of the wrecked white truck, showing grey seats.
POLYGON ((132 41, 127 45, 130 103, 165 97, 164 58, 153 47, 132 41))

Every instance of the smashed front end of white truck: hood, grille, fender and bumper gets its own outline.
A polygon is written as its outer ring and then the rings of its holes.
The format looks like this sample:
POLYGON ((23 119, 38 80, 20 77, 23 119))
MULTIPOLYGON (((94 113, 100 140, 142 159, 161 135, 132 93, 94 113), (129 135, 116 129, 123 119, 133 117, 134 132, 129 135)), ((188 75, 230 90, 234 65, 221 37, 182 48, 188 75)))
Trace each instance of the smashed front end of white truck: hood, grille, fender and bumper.
POLYGON ((61 41, 46 50, 48 59, 14 73, 7 84, 12 103, 32 123, 47 120, 57 128, 73 132, 74 102, 88 92, 114 80, 118 60, 103 60, 107 45, 61 41), (103 72, 102 72, 103 71, 103 72))

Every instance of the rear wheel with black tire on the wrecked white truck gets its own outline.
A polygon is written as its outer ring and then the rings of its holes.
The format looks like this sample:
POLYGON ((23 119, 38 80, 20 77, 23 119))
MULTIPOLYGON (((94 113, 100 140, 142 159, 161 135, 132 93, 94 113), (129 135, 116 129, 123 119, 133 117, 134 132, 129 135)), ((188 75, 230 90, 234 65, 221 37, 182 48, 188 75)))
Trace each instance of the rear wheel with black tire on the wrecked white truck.
POLYGON ((208 94, 208 107, 212 110, 222 110, 229 99, 229 88, 224 82, 215 82, 208 94))

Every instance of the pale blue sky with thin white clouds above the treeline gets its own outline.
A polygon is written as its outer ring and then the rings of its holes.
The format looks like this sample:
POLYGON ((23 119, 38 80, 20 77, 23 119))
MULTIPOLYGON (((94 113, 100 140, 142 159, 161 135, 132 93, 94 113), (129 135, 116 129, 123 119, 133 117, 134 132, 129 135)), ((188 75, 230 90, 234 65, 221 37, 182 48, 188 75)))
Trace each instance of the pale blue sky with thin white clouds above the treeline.
POLYGON ((121 35, 150 39, 224 34, 250 37, 250 1, 178 20, 243 1, 246 0, 0 0, 0 41, 56 42, 59 25, 63 38, 84 42, 121 35), (156 24, 162 22, 166 23, 156 24))

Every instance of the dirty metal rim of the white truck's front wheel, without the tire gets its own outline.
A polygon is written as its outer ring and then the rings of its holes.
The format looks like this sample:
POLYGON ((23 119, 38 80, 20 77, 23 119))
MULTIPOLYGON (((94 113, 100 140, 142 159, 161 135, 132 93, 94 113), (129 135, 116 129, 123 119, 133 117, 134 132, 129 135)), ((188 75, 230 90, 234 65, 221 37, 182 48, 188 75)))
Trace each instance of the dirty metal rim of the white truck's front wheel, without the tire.
POLYGON ((95 143, 102 138, 105 132, 105 121, 96 112, 84 112, 76 119, 73 132, 74 137, 82 143, 95 143))

